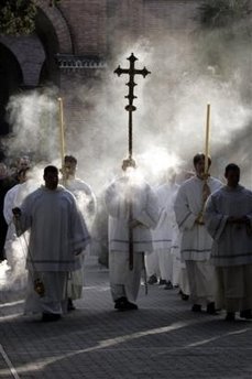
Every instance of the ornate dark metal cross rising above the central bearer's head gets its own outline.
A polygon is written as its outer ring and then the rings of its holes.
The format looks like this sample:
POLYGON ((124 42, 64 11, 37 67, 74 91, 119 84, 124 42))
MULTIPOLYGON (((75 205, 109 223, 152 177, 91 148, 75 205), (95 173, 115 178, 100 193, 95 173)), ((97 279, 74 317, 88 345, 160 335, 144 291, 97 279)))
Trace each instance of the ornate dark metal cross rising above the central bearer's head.
POLYGON ((131 53, 131 56, 129 56, 127 59, 130 61, 130 67, 121 68, 118 66, 118 68, 114 69, 114 74, 118 74, 118 76, 121 74, 129 74, 130 76, 129 83, 127 83, 127 86, 129 87, 129 94, 125 96, 125 98, 129 99, 129 104, 125 106, 125 110, 129 112, 129 158, 131 159, 133 153, 132 112, 136 109, 136 107, 133 105, 133 101, 138 98, 138 96, 134 96, 134 87, 138 86, 134 83, 134 76, 142 75, 145 77, 147 74, 151 74, 151 72, 149 72, 146 67, 143 67, 142 69, 136 69, 134 67, 134 63, 138 61, 138 58, 133 53, 131 53))

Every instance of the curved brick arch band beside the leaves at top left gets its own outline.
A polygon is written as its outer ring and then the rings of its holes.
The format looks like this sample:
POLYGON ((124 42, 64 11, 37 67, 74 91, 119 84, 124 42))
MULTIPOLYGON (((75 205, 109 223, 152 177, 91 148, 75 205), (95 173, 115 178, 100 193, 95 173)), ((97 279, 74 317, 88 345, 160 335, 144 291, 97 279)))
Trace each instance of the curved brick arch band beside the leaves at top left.
POLYGON ((52 23, 55 34, 58 40, 58 53, 73 54, 74 45, 69 28, 61 10, 57 7, 50 7, 45 1, 39 0, 37 8, 40 8, 52 23))

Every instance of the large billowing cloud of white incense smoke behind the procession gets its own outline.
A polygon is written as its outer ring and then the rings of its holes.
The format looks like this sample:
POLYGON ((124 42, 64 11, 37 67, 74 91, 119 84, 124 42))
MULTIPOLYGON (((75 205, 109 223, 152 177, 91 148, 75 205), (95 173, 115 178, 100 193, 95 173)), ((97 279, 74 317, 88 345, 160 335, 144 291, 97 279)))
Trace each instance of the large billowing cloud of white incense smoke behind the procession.
MULTIPOLYGON (((193 156, 205 150, 210 104, 212 174, 222 178, 224 165, 233 161, 241 166, 242 183, 251 188, 251 37, 226 43, 218 33, 199 37, 195 31, 171 32, 167 20, 158 19, 162 22, 162 33, 150 29, 136 42, 121 28, 99 80, 62 94, 66 153, 78 159, 77 176, 101 198, 108 183, 121 173, 121 161, 128 155, 124 96, 129 77, 118 77, 113 71, 118 65, 128 68, 127 57, 133 52, 139 58, 135 67, 151 71, 145 78, 135 76, 133 156, 141 173, 156 185, 165 169, 191 170, 193 156)), ((9 154, 22 151, 35 164, 61 166, 57 93, 48 88, 14 96, 9 112, 13 123, 13 136, 7 141, 9 154)), ((101 204, 99 217, 106 223, 101 204)), ((102 235, 103 227, 98 231, 102 235)))

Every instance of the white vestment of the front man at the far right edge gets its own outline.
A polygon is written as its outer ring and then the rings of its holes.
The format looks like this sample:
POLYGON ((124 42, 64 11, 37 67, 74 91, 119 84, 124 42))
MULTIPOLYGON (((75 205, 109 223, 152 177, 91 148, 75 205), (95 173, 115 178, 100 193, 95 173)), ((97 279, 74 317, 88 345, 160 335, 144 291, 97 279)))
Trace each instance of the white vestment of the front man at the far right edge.
POLYGON ((204 218, 213 238, 218 305, 228 312, 252 308, 252 192, 224 186, 208 198, 204 218), (249 224, 228 223, 230 216, 246 216, 249 224))

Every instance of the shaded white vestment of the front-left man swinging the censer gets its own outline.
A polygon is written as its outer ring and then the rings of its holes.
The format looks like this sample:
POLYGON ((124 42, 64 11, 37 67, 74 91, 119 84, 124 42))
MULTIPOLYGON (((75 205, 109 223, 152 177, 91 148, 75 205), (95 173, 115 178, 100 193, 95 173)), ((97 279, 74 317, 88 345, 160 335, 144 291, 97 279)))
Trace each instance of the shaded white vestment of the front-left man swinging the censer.
POLYGON ((34 191, 24 199, 21 212, 15 225, 18 235, 30 229, 26 258, 30 277, 45 282, 43 297, 30 288, 26 312, 48 312, 51 308, 52 313, 62 313, 62 301, 67 297, 68 272, 80 268, 76 255, 89 243, 85 220, 74 196, 62 186, 55 191, 45 186, 34 191))

